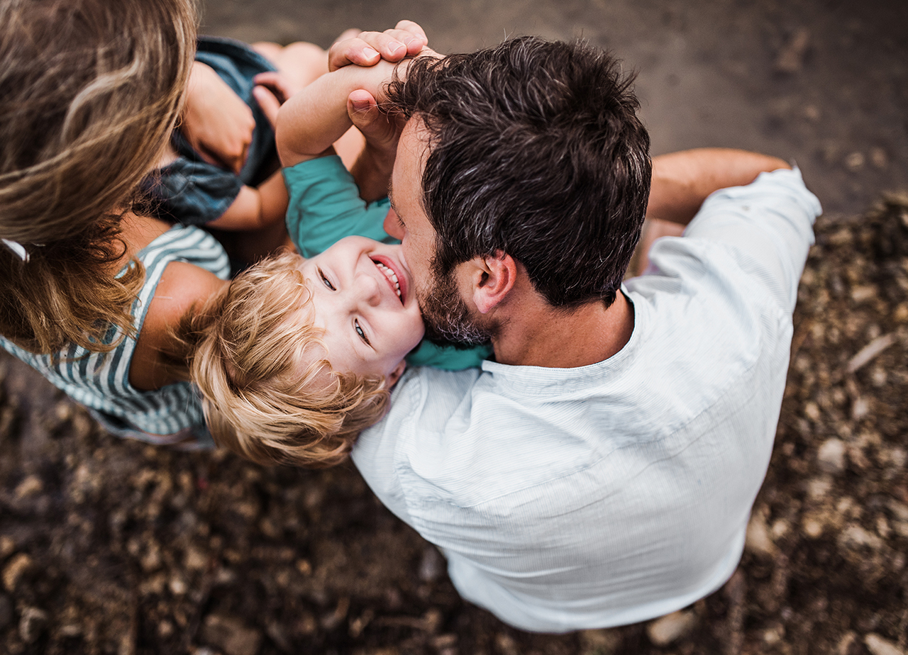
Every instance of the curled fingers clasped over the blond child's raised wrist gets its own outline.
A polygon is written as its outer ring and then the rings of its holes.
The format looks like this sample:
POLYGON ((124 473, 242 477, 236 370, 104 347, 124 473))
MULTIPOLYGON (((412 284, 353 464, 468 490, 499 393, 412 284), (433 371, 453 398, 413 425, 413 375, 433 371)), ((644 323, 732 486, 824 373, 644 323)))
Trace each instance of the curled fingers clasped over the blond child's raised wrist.
POLYGON ((380 60, 400 62, 406 56, 415 56, 429 44, 429 39, 419 24, 400 21, 394 29, 384 32, 360 32, 352 39, 338 41, 328 51, 328 70, 356 64, 374 66, 380 60))

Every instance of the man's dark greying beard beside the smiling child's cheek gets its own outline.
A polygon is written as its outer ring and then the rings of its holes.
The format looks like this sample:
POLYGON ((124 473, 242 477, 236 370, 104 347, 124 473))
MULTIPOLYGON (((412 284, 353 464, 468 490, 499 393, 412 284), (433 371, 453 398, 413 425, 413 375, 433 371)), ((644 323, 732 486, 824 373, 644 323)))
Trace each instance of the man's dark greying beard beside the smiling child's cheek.
POLYGON ((439 275, 432 271, 432 287, 419 293, 419 309, 426 324, 426 338, 440 346, 468 348, 487 344, 493 330, 480 324, 460 298, 454 271, 439 275))

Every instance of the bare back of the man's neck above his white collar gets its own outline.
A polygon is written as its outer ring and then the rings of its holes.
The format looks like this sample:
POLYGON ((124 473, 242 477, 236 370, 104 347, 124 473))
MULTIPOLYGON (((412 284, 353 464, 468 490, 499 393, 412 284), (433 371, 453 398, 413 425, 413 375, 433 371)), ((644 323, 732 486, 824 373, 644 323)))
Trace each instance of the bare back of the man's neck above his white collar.
POLYGON ((573 368, 596 364, 625 347, 634 331, 634 309, 618 292, 608 308, 591 302, 558 311, 538 296, 498 324, 492 339, 501 364, 573 368))

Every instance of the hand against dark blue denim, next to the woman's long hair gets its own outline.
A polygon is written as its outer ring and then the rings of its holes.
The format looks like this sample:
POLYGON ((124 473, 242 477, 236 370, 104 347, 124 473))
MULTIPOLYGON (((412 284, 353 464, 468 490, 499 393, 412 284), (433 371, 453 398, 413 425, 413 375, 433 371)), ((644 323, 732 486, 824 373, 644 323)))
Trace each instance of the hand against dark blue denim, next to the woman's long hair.
POLYGON ((249 105, 211 66, 192 64, 180 130, 202 159, 239 173, 254 129, 249 105))

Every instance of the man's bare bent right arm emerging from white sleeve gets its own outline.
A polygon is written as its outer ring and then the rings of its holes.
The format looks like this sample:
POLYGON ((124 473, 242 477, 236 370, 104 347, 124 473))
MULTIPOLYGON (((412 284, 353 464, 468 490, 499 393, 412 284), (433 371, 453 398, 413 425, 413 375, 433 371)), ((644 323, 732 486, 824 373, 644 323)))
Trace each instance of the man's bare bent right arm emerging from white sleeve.
POLYGON ((653 158, 653 183, 646 217, 686 225, 706 197, 744 186, 761 172, 791 169, 769 155, 728 148, 699 148, 653 158))

